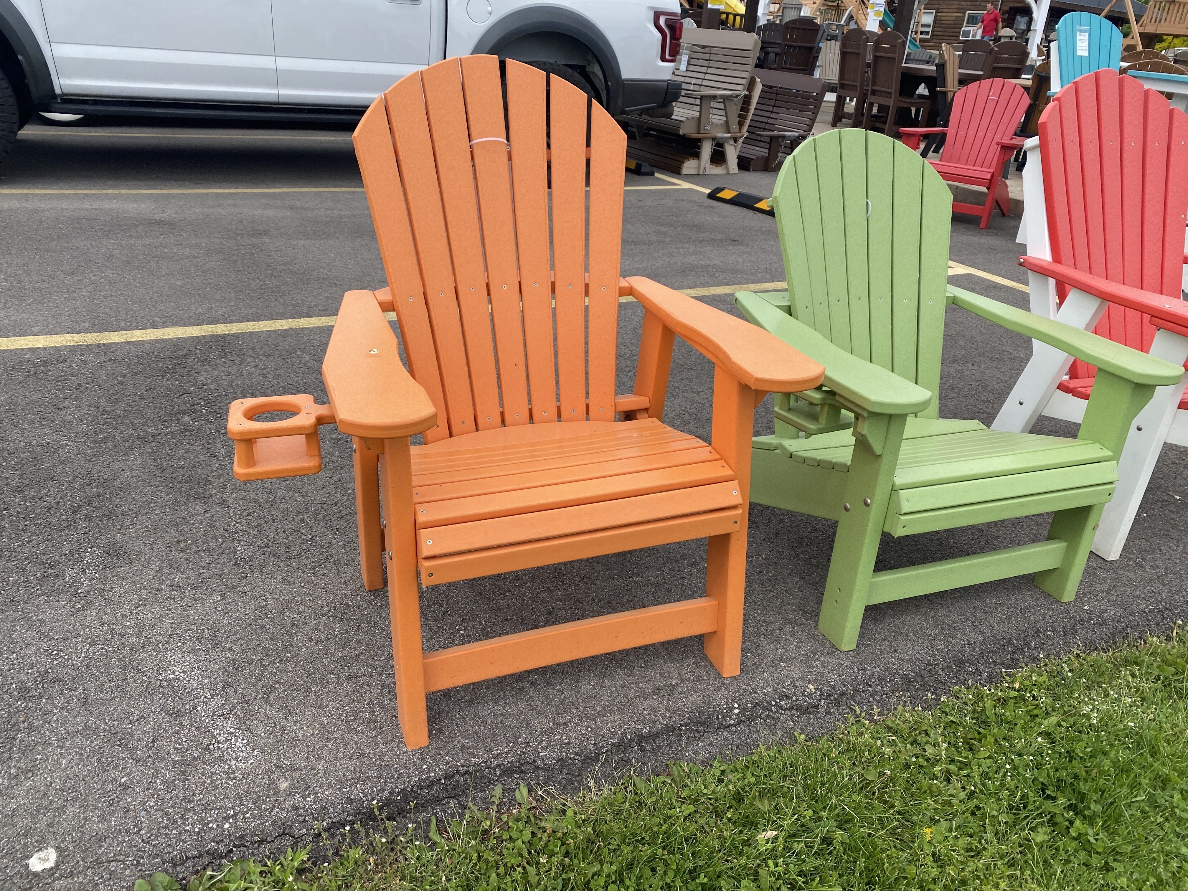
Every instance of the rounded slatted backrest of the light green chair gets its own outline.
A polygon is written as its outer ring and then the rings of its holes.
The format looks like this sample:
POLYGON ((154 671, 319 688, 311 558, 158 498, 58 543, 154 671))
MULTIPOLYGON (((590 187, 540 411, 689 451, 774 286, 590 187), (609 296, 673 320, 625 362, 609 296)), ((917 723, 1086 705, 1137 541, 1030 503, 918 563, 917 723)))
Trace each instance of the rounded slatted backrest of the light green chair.
POLYGON ((830 131, 784 163, 772 207, 796 318, 934 393, 920 416, 937 417, 953 208, 941 177, 883 134, 830 131))

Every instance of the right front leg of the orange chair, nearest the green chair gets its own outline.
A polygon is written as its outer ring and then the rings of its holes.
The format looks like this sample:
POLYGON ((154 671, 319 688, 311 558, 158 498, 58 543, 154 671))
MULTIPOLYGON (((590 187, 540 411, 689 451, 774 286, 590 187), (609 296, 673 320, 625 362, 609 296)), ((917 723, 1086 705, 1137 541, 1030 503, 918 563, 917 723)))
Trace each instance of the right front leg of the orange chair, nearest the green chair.
POLYGON ((738 478, 744 510, 738 531, 710 536, 706 595, 718 601, 718 628, 704 637, 706 656, 722 677, 742 670, 742 596, 746 586, 746 505, 750 503, 751 435, 756 392, 714 369, 713 447, 738 478))

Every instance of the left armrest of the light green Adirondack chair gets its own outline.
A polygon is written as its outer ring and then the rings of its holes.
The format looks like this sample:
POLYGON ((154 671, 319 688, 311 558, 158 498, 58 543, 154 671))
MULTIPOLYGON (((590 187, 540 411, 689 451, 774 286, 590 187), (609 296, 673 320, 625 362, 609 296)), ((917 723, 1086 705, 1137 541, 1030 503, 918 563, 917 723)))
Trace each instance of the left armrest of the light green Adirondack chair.
POLYGON ((734 295, 734 305, 748 321, 823 365, 824 385, 847 407, 854 406, 867 415, 915 415, 933 402, 933 394, 923 387, 834 346, 803 322, 782 312, 763 295, 739 291, 734 295))

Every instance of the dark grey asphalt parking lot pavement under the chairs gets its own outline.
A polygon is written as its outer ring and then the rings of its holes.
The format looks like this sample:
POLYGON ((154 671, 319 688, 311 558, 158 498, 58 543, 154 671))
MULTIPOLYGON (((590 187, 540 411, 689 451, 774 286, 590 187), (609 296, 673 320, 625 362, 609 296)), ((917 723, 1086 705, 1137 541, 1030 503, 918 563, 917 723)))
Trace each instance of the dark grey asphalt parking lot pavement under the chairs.
MULTIPOLYGON (((764 195, 773 175, 684 179, 764 195)), ((770 217, 670 181, 627 185, 624 274, 731 312, 728 293, 704 291, 784 278, 770 217), (639 188, 656 185, 671 188, 639 188)), ((345 290, 384 284, 346 129, 34 125, 0 165, 0 337, 323 317, 345 290)), ((952 259, 1025 282, 1017 226, 954 217, 952 259)), ((642 310, 620 311, 623 392, 642 310)), ((592 772, 741 753, 1188 614, 1177 447, 1123 558, 1091 556, 1075 602, 1022 577, 885 604, 849 653, 816 631, 834 524, 753 506, 739 677, 721 678, 696 639, 529 671, 431 694, 431 742, 409 752, 386 594, 359 577, 349 440, 323 428, 316 476, 230 474, 228 403, 324 400, 329 327, 191 334, 0 349, 0 887, 128 889, 304 842, 373 802, 425 814, 485 802, 497 782, 575 790, 592 772), (32 872, 49 847, 56 866, 32 872)), ((990 423, 1029 354, 950 308, 943 415, 990 423)), ((678 345, 665 422, 708 438, 710 380, 678 345)), ((1049 419, 1036 431, 1075 435, 1049 419)), ((1045 529, 884 537, 879 568, 1045 529)), ((425 646, 696 596, 703 561, 693 542, 435 587, 425 646)))

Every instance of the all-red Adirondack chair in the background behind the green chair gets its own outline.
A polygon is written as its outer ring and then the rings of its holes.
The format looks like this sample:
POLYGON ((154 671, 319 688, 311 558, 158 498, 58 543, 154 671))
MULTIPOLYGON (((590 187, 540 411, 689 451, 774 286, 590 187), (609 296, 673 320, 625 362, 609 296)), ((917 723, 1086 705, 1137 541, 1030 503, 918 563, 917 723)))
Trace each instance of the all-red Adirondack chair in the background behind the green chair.
POLYGON ((988 77, 962 87, 953 97, 947 127, 903 127, 899 135, 909 148, 931 133, 944 133, 940 160, 928 162, 947 183, 980 185, 986 190, 985 207, 953 202, 960 214, 981 217, 981 228, 990 225, 994 204, 1003 216, 1011 209, 1011 195, 1003 178, 1003 166, 1024 140, 1015 132, 1028 110, 1028 94, 1017 83, 988 77))

